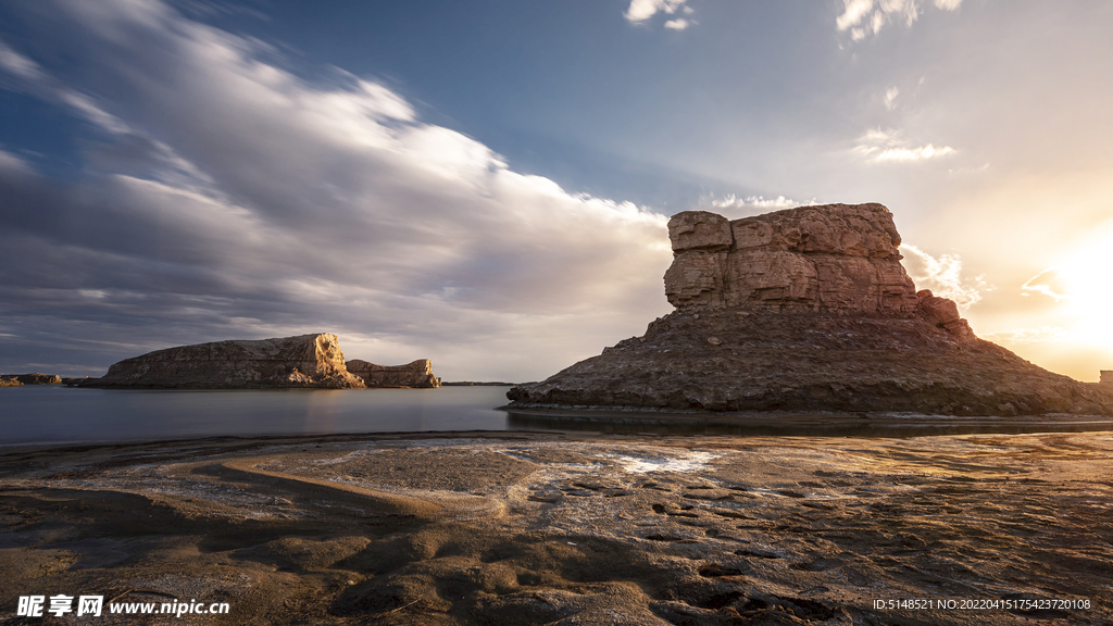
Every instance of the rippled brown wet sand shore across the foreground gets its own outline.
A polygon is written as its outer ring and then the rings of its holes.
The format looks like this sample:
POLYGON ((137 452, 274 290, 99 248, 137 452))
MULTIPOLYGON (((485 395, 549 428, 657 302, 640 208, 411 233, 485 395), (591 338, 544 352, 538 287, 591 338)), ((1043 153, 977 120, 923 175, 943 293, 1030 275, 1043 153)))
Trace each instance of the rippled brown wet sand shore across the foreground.
POLYGON ((1111 502, 1111 432, 9 449, 0 623, 96 594, 230 614, 26 623, 1110 624, 1111 502))

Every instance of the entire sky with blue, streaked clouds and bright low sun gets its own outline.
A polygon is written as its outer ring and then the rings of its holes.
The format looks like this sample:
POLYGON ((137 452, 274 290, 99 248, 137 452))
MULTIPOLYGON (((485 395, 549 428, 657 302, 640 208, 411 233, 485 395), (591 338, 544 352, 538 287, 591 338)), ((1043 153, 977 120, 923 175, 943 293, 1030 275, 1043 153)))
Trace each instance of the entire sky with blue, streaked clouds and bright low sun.
POLYGON ((909 275, 1113 370, 1113 3, 0 4, 0 371, 312 332, 541 380, 671 306, 666 224, 879 202, 909 275))

